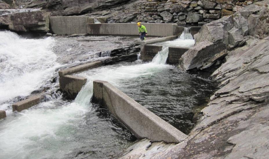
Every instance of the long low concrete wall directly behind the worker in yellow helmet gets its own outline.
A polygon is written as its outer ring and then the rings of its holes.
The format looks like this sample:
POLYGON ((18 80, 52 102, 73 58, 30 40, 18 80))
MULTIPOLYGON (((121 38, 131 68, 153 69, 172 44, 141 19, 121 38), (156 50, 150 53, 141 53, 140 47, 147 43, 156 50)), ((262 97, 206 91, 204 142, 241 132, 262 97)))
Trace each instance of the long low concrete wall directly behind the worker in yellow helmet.
MULTIPOLYGON (((142 23, 149 36, 180 35, 184 28, 177 24, 142 23)), ((90 35, 138 35, 136 23, 105 23, 87 24, 87 33, 90 35)))

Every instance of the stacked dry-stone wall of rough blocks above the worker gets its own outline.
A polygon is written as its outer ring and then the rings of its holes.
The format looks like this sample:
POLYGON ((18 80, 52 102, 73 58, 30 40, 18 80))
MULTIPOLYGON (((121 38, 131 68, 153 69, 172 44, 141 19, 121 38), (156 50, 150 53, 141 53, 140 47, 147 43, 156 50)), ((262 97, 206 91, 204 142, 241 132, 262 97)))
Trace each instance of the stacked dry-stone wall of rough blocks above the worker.
POLYGON ((147 0, 138 21, 204 25, 261 0, 147 0))

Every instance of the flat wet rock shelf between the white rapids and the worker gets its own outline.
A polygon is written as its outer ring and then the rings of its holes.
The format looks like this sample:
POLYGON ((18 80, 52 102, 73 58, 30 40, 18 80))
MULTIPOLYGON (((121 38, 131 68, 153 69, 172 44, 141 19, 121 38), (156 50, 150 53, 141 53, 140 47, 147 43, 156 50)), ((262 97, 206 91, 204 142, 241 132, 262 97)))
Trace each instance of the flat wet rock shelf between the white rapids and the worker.
POLYGON ((140 52, 139 37, 128 36, 54 36, 52 50, 60 63, 102 60, 109 56, 122 56, 140 52))

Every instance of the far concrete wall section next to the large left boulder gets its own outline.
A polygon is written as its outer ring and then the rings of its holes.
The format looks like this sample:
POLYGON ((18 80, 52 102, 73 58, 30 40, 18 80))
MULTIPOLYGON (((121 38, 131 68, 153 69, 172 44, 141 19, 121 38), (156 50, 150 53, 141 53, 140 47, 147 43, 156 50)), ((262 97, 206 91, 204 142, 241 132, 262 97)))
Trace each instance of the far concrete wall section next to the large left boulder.
MULTIPOLYGON (((50 29, 54 34, 87 34, 86 25, 94 23, 94 18, 89 16, 53 16, 50 19, 50 29)), ((96 18, 101 23, 106 23, 107 17, 96 18)))

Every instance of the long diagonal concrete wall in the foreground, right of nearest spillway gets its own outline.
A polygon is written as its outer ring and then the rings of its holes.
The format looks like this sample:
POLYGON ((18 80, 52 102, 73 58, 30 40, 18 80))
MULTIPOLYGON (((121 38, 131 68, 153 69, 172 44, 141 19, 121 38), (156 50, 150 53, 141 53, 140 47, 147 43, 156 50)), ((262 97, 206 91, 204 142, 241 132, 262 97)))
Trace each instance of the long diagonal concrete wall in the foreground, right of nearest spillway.
POLYGON ((106 81, 94 81, 93 92, 94 100, 101 101, 137 138, 179 143, 187 137, 106 81))

